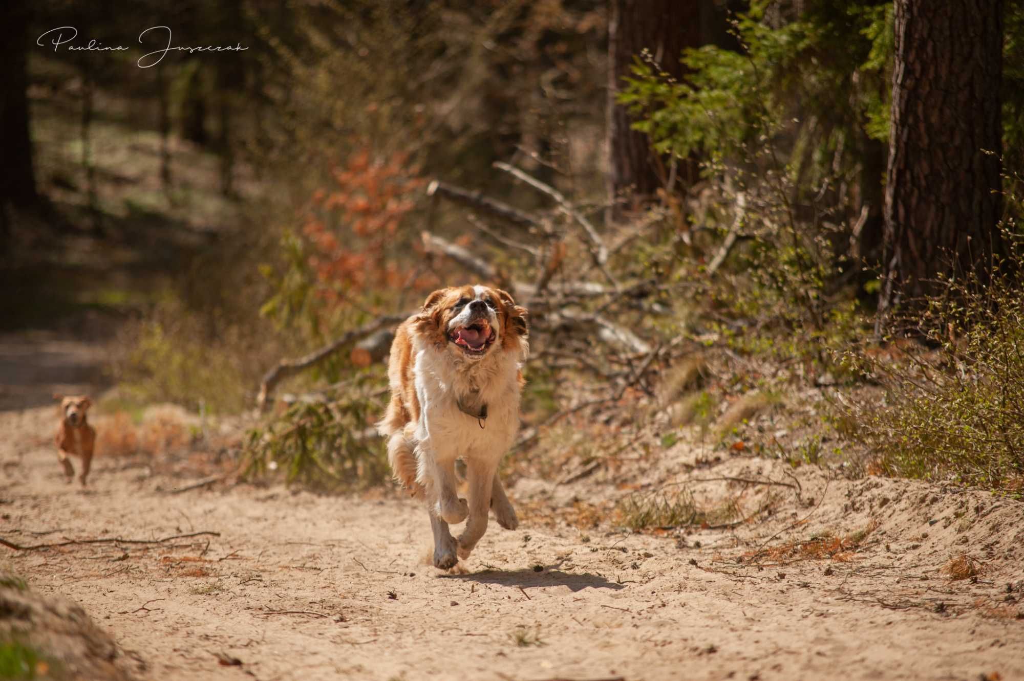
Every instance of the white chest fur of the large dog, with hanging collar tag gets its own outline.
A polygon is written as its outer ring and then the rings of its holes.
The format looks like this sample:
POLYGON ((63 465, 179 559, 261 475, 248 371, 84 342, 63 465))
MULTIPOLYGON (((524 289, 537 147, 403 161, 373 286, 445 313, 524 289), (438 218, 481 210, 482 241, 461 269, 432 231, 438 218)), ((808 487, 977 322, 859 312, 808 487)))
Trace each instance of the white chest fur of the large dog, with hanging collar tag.
POLYGON ((519 425, 518 358, 500 353, 460 368, 435 348, 415 352, 421 408, 416 439, 439 460, 501 458, 519 425), (486 418, 465 413, 460 403, 477 414, 486 405, 486 418))

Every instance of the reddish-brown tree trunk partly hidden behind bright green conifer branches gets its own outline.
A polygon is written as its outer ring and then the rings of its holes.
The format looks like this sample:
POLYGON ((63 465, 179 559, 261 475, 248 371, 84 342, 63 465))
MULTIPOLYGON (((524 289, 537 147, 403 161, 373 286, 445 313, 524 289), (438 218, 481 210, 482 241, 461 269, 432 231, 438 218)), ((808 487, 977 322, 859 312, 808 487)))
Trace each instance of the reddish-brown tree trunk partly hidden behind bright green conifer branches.
MULTIPOLYGON (((667 164, 650 149, 650 140, 631 129, 634 121, 615 103, 623 78, 631 75, 635 56, 650 52, 660 69, 681 78, 684 47, 702 45, 709 5, 705 0, 610 0, 608 22, 608 194, 614 201, 624 193, 636 198, 653 196, 666 185, 667 164)), ((696 180, 695 164, 683 164, 684 183, 696 180)))

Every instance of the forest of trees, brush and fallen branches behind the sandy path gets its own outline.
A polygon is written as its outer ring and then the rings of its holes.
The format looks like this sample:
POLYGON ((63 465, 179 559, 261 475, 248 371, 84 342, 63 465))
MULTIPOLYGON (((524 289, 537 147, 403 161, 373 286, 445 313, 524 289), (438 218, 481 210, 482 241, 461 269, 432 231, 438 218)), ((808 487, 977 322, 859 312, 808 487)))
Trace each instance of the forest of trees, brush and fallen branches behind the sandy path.
POLYGON ((531 314, 515 466, 694 438, 1021 494, 1024 11, 924 4, 7 3, 0 325, 357 487, 390 328, 489 281, 531 314), (142 69, 154 26, 247 49, 142 69))

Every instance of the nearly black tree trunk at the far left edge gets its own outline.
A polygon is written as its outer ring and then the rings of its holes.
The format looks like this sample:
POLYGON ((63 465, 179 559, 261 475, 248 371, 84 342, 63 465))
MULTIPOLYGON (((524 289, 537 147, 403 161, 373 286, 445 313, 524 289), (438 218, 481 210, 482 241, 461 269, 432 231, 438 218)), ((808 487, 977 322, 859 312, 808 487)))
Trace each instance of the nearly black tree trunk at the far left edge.
POLYGON ((38 200, 29 134, 29 76, 26 51, 30 44, 29 10, 22 3, 0 9, 0 206, 28 206, 38 200))

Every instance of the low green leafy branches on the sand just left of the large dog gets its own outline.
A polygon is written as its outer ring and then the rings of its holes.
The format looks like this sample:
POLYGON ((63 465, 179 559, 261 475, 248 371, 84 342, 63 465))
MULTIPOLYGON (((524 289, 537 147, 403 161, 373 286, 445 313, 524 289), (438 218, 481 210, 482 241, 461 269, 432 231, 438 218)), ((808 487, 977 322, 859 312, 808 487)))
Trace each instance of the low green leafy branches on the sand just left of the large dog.
POLYGON ((388 478, 384 441, 374 423, 381 413, 376 398, 385 380, 364 371, 324 395, 298 401, 266 426, 249 434, 244 475, 284 474, 289 485, 319 490, 360 489, 388 478))

